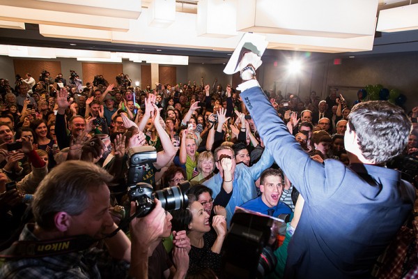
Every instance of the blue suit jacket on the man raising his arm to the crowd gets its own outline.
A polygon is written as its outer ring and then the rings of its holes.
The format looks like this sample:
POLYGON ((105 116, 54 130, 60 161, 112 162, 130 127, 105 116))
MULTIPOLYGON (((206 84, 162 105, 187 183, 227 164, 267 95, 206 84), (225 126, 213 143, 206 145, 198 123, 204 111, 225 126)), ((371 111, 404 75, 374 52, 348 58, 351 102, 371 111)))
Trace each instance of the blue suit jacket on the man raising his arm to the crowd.
POLYGON ((306 201, 288 246, 285 277, 369 278, 410 213, 414 188, 393 169, 311 160, 258 86, 241 97, 265 146, 306 201))

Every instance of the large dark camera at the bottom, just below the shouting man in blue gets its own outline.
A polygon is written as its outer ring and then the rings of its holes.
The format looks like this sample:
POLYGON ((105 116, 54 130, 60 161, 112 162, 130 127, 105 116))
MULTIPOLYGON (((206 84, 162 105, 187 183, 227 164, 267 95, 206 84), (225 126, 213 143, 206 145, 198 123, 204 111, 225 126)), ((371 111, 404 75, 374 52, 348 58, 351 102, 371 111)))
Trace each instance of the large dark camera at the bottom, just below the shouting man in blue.
POLYGON ((236 209, 224 241, 224 278, 264 278, 274 271, 277 259, 270 244, 281 224, 276 218, 236 209))

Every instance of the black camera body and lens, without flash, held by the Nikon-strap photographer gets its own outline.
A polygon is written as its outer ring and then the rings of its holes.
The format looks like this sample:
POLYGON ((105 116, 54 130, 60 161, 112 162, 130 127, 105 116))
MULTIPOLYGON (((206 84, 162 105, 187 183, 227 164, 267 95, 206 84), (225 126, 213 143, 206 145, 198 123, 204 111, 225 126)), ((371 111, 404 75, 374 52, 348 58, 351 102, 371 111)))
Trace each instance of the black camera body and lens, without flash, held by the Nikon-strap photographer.
POLYGON ((178 183, 178 186, 154 192, 150 184, 139 182, 129 188, 128 197, 131 202, 137 202, 137 217, 140 218, 148 215, 154 209, 154 199, 158 199, 162 208, 166 211, 185 209, 189 205, 189 199, 186 195, 189 188, 189 181, 183 181, 178 183))

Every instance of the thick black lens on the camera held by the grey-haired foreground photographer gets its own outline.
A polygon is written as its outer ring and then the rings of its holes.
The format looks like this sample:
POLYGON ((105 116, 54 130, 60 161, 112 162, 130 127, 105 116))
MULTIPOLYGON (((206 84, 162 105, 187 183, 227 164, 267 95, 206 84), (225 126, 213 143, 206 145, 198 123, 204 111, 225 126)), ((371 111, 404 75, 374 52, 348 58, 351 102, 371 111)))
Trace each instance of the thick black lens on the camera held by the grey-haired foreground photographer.
POLYGON ((160 200, 162 208, 167 211, 181 209, 189 203, 187 195, 178 186, 157 190, 154 197, 160 200))

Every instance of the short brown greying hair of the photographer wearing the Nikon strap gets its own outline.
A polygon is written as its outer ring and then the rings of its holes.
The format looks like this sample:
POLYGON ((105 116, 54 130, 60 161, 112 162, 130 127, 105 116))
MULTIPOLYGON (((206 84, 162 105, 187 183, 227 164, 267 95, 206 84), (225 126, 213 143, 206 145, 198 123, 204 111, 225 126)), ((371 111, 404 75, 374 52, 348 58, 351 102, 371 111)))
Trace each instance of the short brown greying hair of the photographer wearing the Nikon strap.
POLYGON ((113 176, 101 167, 82 160, 70 160, 52 169, 42 180, 35 195, 32 209, 36 223, 46 230, 54 229, 54 216, 64 211, 78 216, 88 206, 88 195, 113 176))

